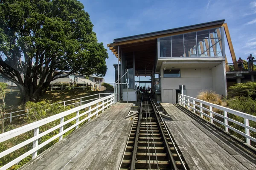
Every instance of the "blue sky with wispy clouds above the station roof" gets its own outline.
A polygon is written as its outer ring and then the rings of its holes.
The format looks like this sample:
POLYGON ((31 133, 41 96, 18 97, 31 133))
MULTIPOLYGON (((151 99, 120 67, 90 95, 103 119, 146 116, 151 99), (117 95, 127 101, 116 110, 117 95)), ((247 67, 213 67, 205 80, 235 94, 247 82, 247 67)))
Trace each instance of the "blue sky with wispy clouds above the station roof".
MULTIPOLYGON (((236 58, 256 57, 256 0, 80 0, 105 48, 114 38, 225 19, 236 58)), ((229 48, 226 55, 232 62, 229 48)), ((116 57, 108 49, 105 82, 114 82, 116 57)))

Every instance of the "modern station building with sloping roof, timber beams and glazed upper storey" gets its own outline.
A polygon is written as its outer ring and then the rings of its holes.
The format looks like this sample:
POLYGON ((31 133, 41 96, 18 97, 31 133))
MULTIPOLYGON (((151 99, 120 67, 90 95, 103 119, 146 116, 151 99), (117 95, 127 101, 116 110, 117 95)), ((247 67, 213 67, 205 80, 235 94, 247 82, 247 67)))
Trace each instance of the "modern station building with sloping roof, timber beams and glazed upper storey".
MULTIPOLYGON (((119 100, 136 101, 137 86, 150 86, 157 102, 176 103, 180 85, 185 85, 184 94, 192 97, 202 90, 226 96, 224 34, 230 51, 233 46, 224 22, 113 39, 108 47, 118 59, 114 67, 119 100)), ((234 54, 232 57, 237 65, 234 54)))

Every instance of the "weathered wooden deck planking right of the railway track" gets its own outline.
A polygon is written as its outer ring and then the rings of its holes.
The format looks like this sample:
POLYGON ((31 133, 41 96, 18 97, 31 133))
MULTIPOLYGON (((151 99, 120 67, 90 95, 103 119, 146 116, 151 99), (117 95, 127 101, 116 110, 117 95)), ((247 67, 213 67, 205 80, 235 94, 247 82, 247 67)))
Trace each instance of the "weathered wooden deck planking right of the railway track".
POLYGON ((161 103, 165 121, 191 170, 254 170, 256 155, 179 105, 161 103))

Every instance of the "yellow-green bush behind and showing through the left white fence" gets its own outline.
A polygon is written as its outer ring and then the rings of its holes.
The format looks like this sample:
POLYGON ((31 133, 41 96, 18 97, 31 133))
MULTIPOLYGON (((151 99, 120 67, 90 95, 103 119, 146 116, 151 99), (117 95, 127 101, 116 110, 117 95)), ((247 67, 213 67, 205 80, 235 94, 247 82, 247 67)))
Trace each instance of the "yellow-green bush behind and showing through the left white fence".
MULTIPOLYGON (((49 116, 61 113, 63 111, 67 111, 71 108, 73 108, 72 106, 63 106, 61 104, 54 104, 54 105, 50 105, 50 102, 47 100, 41 101, 41 102, 27 102, 26 103, 26 108, 29 109, 29 113, 28 113, 28 117, 25 117, 24 119, 26 120, 26 122, 32 123, 44 118, 47 118, 49 116)), ((68 116, 64 117, 64 121, 66 121, 67 119, 71 119, 72 117, 74 117, 76 115, 76 113, 72 113, 68 116)), ((56 125, 58 125, 60 122, 60 120, 55 120, 53 122, 50 122, 46 125, 43 125, 39 128, 39 133, 42 133, 56 125)), ((67 126, 70 126, 72 124, 75 124, 75 121, 72 121, 70 123, 68 123, 67 125, 64 125, 64 128, 67 126)), ((12 129, 10 129, 12 130, 12 129)), ((52 131, 51 133, 48 133, 45 136, 42 136, 40 139, 38 139, 38 144, 41 144, 45 141, 47 141, 48 139, 50 139, 52 136, 55 136, 56 134, 59 133, 59 129, 52 131)), ((67 132, 66 134, 64 134, 64 136, 66 136, 69 132, 67 132)), ((33 131, 29 131, 26 133, 23 133, 19 136, 16 136, 12 139, 9 139, 5 142, 1 142, 0 143, 0 152, 3 152, 6 149, 9 149, 17 144, 20 144, 21 142, 26 141, 27 139, 30 139, 33 137, 33 131)), ((52 146, 53 144, 55 144, 56 142, 58 142, 58 138, 53 140, 52 142, 50 142, 49 144, 47 144, 46 146, 42 147, 40 150, 38 150, 38 154, 42 153, 44 150, 48 149, 50 146, 52 146)), ((5 165, 6 163, 16 159, 17 157, 19 157, 20 155, 22 155, 23 153, 26 153, 27 151, 32 149, 32 143, 27 144, 24 147, 21 147, 18 150, 15 150, 15 152, 12 152, 2 158, 0 158, 0 166, 5 165)), ((18 164, 12 166, 10 169, 18 169, 21 166, 23 166, 24 164, 26 164, 30 159, 30 156, 26 157, 25 159, 23 159, 22 161, 20 161, 18 164)))

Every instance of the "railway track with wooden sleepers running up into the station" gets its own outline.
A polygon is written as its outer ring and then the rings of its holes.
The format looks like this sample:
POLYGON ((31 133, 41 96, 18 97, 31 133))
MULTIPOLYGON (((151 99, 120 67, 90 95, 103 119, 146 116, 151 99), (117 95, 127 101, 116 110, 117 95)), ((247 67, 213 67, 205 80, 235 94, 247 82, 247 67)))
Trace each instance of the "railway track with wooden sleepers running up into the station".
POLYGON ((120 170, 189 170, 149 94, 133 120, 120 170))

